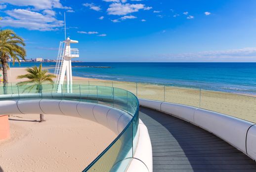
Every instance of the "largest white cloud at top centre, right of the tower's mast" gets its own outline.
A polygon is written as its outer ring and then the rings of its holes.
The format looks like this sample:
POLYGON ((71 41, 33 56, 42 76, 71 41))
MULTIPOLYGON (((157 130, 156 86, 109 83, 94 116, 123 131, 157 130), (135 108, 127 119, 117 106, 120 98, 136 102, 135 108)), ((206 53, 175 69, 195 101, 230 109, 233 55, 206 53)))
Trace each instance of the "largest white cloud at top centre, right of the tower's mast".
POLYGON ((122 4, 122 3, 112 3, 109 5, 107 12, 109 15, 127 15, 129 13, 137 12, 140 9, 147 10, 144 4, 122 4))

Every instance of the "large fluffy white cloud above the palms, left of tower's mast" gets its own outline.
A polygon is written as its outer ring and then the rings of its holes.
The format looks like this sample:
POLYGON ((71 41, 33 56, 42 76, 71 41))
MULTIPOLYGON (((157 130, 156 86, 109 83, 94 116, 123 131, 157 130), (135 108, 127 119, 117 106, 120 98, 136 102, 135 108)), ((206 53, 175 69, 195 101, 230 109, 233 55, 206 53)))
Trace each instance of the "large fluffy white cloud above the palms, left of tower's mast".
MULTIPOLYGON (((63 26, 63 21, 59 21, 48 14, 43 15, 25 9, 13 9, 5 11, 9 16, 3 17, 0 21, 2 27, 26 28, 29 30, 57 30, 63 26)), ((48 11, 49 13, 49 11, 48 11)))

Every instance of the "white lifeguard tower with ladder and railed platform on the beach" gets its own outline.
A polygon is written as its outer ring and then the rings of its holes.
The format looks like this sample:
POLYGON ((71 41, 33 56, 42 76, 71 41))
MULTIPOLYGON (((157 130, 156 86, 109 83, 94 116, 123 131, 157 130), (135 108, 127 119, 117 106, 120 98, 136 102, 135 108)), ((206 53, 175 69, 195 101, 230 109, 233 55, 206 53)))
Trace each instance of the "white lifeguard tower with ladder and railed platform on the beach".
POLYGON ((77 48, 70 48, 70 44, 76 44, 78 41, 71 40, 69 37, 65 41, 61 41, 59 45, 58 57, 56 60, 55 84, 57 85, 57 92, 61 92, 61 86, 66 79, 67 92, 72 92, 72 58, 79 57, 79 50, 77 48))

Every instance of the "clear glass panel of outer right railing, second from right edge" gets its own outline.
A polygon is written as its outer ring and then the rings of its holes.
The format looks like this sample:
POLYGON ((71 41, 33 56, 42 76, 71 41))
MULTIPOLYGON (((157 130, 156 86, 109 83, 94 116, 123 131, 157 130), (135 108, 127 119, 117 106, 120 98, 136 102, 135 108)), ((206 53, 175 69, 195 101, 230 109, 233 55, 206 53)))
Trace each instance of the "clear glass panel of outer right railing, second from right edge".
POLYGON ((200 88, 186 87, 165 87, 165 101, 188 106, 199 107, 200 104, 200 88))

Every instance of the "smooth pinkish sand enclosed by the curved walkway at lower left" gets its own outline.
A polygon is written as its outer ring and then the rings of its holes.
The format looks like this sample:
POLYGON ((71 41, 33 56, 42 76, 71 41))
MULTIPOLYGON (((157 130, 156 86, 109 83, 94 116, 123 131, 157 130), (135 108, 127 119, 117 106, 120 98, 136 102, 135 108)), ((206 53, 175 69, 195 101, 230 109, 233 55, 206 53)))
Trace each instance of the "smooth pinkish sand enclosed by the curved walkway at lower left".
MULTIPOLYGON (((81 172, 117 136, 95 122, 63 115, 11 115, 10 138, 0 141, 4 172, 81 172)), ((0 170, 1 171, 1 170, 0 170)))

